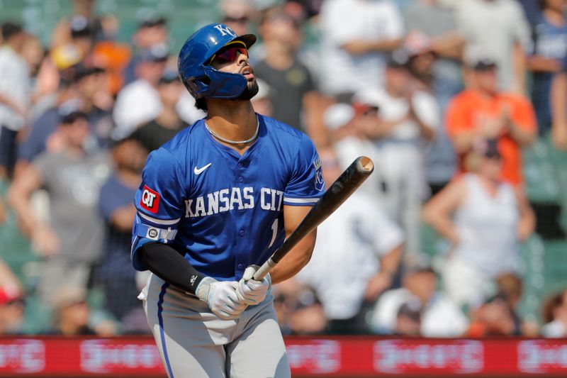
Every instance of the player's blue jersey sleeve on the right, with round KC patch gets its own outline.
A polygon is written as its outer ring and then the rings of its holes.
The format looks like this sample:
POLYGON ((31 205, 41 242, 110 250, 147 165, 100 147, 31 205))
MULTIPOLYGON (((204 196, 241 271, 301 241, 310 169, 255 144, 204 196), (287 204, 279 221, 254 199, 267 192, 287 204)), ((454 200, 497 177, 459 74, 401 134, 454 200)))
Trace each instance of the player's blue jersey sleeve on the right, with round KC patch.
POLYGON ((325 192, 321 160, 315 145, 303 134, 293 162, 291 179, 283 192, 283 204, 313 206, 325 192))

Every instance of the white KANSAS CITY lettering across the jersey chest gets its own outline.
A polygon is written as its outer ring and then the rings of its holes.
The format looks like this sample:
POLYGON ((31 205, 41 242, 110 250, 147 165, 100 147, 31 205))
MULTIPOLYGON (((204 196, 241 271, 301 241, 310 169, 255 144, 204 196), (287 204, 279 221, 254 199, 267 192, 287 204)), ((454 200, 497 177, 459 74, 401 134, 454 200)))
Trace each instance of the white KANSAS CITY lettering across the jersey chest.
MULTIPOLYGON (((220 189, 205 196, 198 196, 196 199, 186 199, 185 218, 210 216, 234 209, 254 209, 257 202, 253 187, 220 189)), ((272 188, 260 189, 259 204, 262 210, 281 211, 283 191, 272 188)))

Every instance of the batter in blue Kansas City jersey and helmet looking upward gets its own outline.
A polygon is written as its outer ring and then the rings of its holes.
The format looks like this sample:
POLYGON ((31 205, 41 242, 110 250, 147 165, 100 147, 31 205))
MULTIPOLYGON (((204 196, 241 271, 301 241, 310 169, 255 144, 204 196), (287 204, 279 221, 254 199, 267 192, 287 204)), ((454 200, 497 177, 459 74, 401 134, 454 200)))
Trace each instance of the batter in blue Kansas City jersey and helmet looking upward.
POLYGON ((150 154, 135 196, 132 260, 169 377, 290 377, 271 284, 310 259, 308 235, 262 281, 258 265, 322 196, 310 139, 254 113, 252 34, 210 24, 186 40, 179 77, 206 118, 150 154))

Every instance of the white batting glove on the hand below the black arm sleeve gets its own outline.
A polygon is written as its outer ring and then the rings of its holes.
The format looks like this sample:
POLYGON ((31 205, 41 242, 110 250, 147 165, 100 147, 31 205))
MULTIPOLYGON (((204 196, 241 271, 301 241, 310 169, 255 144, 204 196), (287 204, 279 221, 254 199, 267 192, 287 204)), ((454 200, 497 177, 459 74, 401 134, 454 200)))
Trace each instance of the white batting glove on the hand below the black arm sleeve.
POLYGON ((217 281, 213 277, 205 277, 199 282, 195 294, 206 302, 210 311, 221 319, 236 319, 247 305, 238 299, 236 281, 217 281))

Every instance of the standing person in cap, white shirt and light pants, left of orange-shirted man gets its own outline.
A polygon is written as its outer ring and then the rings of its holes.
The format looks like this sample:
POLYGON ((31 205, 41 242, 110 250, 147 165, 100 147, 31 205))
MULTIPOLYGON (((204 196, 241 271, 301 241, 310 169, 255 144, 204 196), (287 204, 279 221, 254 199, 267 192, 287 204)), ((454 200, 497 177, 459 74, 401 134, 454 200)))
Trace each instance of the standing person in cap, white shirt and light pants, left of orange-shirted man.
POLYGON ((374 106, 378 118, 365 123, 360 135, 374 143, 374 195, 388 216, 405 233, 405 260, 420 254, 419 213, 427 196, 423 164, 425 145, 440 126, 437 101, 427 91, 415 89, 408 71, 408 56, 396 50, 388 58, 383 88, 357 92, 353 101, 374 106))

